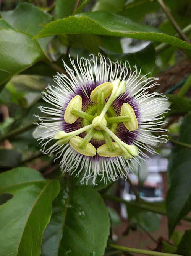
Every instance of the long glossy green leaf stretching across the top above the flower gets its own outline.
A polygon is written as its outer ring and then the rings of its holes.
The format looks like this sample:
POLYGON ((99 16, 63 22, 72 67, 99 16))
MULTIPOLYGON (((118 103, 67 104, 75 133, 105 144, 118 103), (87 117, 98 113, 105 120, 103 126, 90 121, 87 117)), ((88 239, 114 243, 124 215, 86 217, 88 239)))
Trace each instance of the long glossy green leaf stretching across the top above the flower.
POLYGON ((37 34, 36 38, 56 34, 98 34, 123 36, 172 44, 191 50, 191 45, 181 39, 160 33, 154 27, 134 22, 123 16, 104 11, 81 13, 62 20, 53 21, 37 34))

